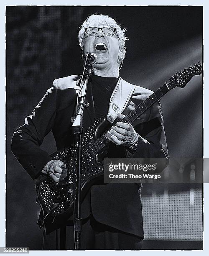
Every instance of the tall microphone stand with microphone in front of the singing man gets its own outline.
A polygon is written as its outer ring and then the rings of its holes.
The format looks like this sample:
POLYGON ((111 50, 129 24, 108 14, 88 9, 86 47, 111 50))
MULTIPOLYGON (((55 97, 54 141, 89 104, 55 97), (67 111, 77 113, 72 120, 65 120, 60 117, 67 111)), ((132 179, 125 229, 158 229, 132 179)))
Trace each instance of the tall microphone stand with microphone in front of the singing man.
MULTIPOLYGON (((87 84, 90 74, 92 74, 92 59, 90 52, 87 52, 86 61, 84 64, 84 72, 79 87, 78 100, 77 100, 77 113, 72 125, 72 132, 78 135, 78 148, 77 148, 77 164, 76 164, 76 197, 74 196, 74 245, 75 249, 79 250, 81 246, 81 232, 82 232, 82 219, 81 219, 81 188, 82 188, 82 135, 83 135, 83 113, 84 108, 89 106, 85 103, 85 96, 87 91, 87 84)), ((74 174, 75 175, 75 174, 74 174)))

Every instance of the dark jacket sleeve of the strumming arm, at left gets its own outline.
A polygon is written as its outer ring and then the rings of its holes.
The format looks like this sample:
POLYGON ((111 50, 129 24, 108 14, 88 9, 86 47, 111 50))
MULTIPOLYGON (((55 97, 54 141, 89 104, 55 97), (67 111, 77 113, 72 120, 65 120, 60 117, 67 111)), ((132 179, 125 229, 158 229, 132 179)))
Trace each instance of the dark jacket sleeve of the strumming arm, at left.
POLYGON ((52 160, 40 146, 54 124, 56 91, 56 87, 47 90, 32 115, 25 118, 25 124, 14 132, 12 138, 12 152, 32 179, 36 179, 48 161, 52 160))

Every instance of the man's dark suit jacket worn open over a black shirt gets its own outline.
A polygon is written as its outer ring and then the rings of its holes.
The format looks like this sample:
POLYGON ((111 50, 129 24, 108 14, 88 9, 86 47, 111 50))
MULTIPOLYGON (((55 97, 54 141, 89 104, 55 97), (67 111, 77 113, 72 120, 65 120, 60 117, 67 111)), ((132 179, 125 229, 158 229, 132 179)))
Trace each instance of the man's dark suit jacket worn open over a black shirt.
MULTIPOLYGON (((43 138, 49 131, 54 134, 57 149, 72 144, 70 118, 74 116, 77 96, 76 86, 79 85, 79 78, 79 75, 73 75, 54 80, 53 87, 48 89, 46 95, 33 110, 32 115, 25 118, 25 124, 18 128, 13 135, 13 154, 32 179, 36 181, 41 179, 43 167, 48 161, 52 160, 46 151, 40 149, 43 138)), ((150 90, 136 86, 123 114, 133 110, 151 93, 150 90)), ((93 99, 89 90, 87 90, 87 101, 90 105, 89 108, 85 109, 84 130, 94 121, 93 99)), ((135 131, 145 138, 148 143, 139 140, 134 154, 131 154, 122 146, 112 144, 112 152, 117 152, 118 157, 168 157, 159 102, 135 120, 133 126, 135 131)), ((143 218, 139 189, 137 184, 93 185, 89 191, 90 194, 88 193, 82 203, 82 218, 87 217, 92 211, 94 218, 100 223, 143 238, 143 218)))

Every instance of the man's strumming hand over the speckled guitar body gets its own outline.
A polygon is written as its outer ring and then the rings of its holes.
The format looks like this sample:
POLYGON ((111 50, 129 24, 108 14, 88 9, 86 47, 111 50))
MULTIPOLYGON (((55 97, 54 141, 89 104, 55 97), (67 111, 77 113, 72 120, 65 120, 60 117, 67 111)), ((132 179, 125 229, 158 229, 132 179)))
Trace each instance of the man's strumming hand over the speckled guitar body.
POLYGON ((65 163, 60 160, 51 160, 49 161, 41 171, 44 174, 48 174, 49 177, 59 185, 65 185, 66 181, 64 179, 67 176, 67 169, 65 168, 65 163), (62 168, 61 168, 62 166, 62 168), (63 168, 64 166, 64 168, 63 168))

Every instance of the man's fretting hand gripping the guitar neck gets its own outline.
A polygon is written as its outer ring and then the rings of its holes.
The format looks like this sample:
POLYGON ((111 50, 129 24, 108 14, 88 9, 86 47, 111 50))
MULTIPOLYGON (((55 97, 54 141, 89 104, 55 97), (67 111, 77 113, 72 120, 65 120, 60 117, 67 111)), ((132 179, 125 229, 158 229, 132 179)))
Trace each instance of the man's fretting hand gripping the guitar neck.
MULTIPOLYGON (((117 114, 120 119, 125 115, 117 114)), ((133 146, 138 142, 138 134, 133 126, 128 123, 117 122, 113 125, 110 132, 112 133, 111 141, 116 145, 133 146), (116 126, 117 125, 117 126, 116 126)))

